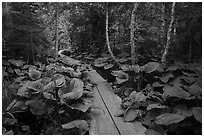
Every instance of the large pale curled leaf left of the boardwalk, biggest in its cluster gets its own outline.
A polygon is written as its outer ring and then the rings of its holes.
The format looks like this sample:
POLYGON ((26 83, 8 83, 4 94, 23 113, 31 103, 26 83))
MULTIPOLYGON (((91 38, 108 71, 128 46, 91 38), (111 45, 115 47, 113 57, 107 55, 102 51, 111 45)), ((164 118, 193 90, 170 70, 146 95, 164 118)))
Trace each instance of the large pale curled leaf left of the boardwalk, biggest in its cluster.
POLYGON ((62 96, 62 100, 77 100, 83 95, 84 82, 80 79, 73 78, 70 82, 71 92, 62 96))

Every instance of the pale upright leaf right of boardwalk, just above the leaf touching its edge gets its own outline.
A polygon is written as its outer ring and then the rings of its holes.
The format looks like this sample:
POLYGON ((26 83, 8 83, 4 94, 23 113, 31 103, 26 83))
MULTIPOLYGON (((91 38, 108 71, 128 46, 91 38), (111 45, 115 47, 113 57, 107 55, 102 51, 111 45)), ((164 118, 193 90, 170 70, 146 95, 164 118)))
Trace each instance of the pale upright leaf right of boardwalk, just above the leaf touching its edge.
POLYGON ((130 99, 131 99, 132 103, 134 103, 134 102, 145 102, 146 101, 146 96, 142 92, 133 91, 130 94, 130 99))

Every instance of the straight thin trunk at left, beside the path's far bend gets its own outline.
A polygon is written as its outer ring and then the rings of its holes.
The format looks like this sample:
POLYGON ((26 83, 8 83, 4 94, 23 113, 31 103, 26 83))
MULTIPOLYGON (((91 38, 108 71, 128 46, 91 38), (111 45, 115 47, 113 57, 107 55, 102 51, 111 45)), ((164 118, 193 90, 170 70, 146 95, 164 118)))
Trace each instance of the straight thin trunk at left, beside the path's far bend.
POLYGON ((56 3, 56 19, 55 19, 55 60, 58 58, 58 37, 59 37, 59 30, 58 30, 58 21, 59 21, 59 7, 58 3, 56 3))

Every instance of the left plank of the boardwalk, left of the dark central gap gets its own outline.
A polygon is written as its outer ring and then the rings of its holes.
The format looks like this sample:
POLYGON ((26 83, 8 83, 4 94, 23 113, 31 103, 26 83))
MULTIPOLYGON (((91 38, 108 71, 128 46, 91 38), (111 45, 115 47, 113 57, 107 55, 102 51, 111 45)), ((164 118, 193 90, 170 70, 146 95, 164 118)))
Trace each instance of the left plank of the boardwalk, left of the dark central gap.
POLYGON ((94 104, 91 109, 90 117, 90 135, 119 135, 113 120, 98 93, 97 88, 94 88, 94 104))

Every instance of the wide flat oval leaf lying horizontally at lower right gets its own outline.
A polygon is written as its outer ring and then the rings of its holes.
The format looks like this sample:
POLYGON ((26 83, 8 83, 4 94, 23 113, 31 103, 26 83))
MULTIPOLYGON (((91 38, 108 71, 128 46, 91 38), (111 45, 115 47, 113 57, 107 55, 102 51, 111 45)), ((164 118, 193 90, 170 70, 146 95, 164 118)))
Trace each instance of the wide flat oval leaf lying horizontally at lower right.
POLYGON ((170 125, 170 124, 178 123, 184 119, 185 119, 184 116, 181 116, 178 114, 166 113, 156 117, 155 122, 160 125, 170 125))

